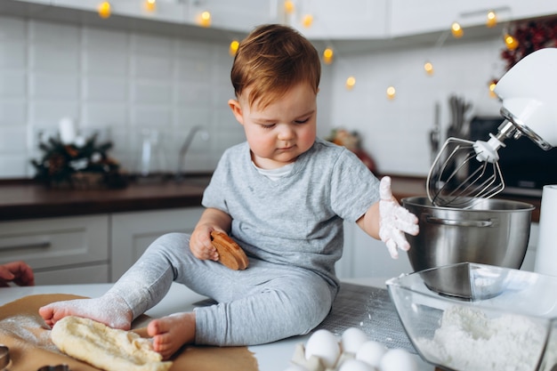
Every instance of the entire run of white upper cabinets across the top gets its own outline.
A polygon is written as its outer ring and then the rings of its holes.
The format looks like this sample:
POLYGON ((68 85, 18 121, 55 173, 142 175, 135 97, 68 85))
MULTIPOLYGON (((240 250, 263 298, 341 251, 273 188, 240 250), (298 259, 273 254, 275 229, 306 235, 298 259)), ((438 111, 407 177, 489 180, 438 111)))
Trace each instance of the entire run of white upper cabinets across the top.
POLYGON ((283 22, 300 30, 312 40, 375 40, 408 36, 432 36, 446 31, 453 21, 480 32, 498 32, 485 28, 489 10, 499 12, 499 21, 521 20, 557 13, 557 4, 547 0, 297 0, 295 12, 286 14, 277 0, 184 0, 157 1, 149 12, 141 0, 110 0, 112 16, 101 20, 97 15, 100 0, 2 0, 0 12, 32 16, 46 20, 83 22, 95 27, 144 30, 200 37, 227 37, 218 30, 246 34, 256 25, 283 22), (212 14, 211 28, 198 27, 201 12, 212 14), (311 14, 311 27, 303 18, 311 14), (211 31, 213 30, 213 31, 211 31))

